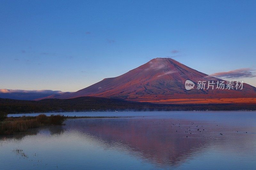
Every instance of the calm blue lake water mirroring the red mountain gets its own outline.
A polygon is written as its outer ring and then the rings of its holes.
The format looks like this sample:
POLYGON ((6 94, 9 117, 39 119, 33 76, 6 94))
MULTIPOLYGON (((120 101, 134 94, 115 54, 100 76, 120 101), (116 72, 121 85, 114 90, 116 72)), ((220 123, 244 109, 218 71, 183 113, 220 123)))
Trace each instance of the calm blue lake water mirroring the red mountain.
POLYGON ((254 111, 89 112, 65 113, 65 115, 136 117, 68 119, 63 126, 31 129, 29 132, 15 136, 0 136, 1 167, 3 169, 255 169, 256 167, 256 112, 254 111), (15 151, 17 149, 22 151, 15 151))

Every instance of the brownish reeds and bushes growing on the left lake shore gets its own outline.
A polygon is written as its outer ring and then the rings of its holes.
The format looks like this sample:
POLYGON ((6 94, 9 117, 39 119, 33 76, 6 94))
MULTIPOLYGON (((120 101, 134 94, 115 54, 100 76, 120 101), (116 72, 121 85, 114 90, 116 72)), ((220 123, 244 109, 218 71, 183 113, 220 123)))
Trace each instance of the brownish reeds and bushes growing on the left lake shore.
POLYGON ((9 117, 0 122, 0 135, 12 135, 41 126, 61 125, 67 118, 64 115, 44 114, 38 116, 9 117))

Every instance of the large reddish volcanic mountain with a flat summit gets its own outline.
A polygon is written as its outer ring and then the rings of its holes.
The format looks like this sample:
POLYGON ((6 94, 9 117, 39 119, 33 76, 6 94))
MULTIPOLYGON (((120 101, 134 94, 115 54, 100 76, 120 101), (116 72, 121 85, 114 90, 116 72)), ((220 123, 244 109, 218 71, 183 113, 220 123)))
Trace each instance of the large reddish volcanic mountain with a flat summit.
MULTIPOLYGON (((105 78, 77 92, 48 98, 70 99, 95 96, 161 103, 179 103, 180 99, 185 100, 185 103, 187 102, 186 100, 200 103, 199 99, 218 99, 221 101, 221 99, 227 98, 256 98, 256 88, 245 83, 242 90, 196 89, 198 81, 217 82, 218 80, 224 81, 194 70, 171 58, 155 58, 121 76, 105 78), (186 80, 192 81, 195 87, 191 90, 186 90, 186 80)), ((209 102, 211 103, 212 101, 209 100, 209 102)))

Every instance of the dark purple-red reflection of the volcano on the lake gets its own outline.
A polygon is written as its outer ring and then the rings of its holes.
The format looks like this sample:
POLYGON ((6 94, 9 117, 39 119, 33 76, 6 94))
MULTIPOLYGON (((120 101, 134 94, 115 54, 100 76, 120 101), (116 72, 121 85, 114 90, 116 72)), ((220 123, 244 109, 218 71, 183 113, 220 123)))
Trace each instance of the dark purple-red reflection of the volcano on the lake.
POLYGON ((130 154, 140 155, 158 166, 178 166, 202 152, 213 141, 224 139, 217 132, 218 128, 214 129, 210 124, 197 125, 185 120, 125 118, 77 121, 79 123, 71 122, 68 126, 80 134, 104 141, 107 147, 123 146, 122 149, 130 154))

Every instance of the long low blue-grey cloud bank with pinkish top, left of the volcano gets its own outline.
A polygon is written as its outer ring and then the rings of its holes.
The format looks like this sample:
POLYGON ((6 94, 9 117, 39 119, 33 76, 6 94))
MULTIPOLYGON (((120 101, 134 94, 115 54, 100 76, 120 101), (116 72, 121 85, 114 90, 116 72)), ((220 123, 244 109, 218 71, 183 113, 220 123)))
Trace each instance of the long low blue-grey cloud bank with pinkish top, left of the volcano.
POLYGON ((52 95, 57 97, 69 92, 52 91, 52 90, 10 90, 0 89, 0 98, 17 99, 17 100, 35 100, 52 95))

